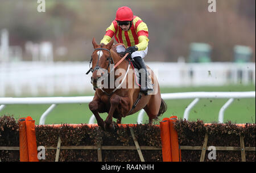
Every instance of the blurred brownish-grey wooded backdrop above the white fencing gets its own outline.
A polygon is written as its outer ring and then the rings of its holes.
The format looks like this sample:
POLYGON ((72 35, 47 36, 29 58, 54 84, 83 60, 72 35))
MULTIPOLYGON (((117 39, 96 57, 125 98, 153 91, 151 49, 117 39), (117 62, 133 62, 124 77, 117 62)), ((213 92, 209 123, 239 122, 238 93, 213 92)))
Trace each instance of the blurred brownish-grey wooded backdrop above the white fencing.
POLYGON ((89 61, 93 37, 99 43, 118 7, 129 6, 148 26, 147 61, 177 62, 188 57, 190 43, 200 42, 212 46, 212 61, 233 61, 233 47, 240 44, 253 49, 255 62, 255 0, 216 1, 217 12, 208 12, 206 0, 46 0, 46 12, 38 5, 0 0, 0 29, 9 30, 10 45, 24 47, 30 40, 66 47, 55 61, 89 61))

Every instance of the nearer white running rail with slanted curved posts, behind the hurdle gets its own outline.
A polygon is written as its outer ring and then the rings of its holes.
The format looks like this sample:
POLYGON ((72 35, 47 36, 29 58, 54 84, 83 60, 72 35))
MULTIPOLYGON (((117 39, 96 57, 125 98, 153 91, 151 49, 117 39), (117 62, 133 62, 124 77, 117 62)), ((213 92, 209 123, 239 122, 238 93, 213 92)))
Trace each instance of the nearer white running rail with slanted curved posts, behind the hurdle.
MULTIPOLYGON (((177 93, 164 93, 161 94, 164 100, 176 100, 176 99, 194 99, 191 104, 185 109, 183 119, 188 120, 189 111, 193 106, 199 102, 200 99, 212 98, 212 99, 229 99, 228 102, 221 107, 218 113, 218 122, 224 123, 225 109, 238 98, 255 98, 255 91, 247 92, 177 92, 177 93)), ((76 97, 47 97, 47 98, 0 98, 0 111, 8 104, 51 104, 51 106, 40 117, 39 124, 43 125, 46 121, 46 117, 52 111, 57 104, 67 103, 89 103, 93 100, 93 96, 76 96, 76 97)), ((144 116, 144 109, 139 112, 137 123, 142 124, 144 116)), ((92 115, 89 120, 89 124, 95 122, 95 117, 92 115)))

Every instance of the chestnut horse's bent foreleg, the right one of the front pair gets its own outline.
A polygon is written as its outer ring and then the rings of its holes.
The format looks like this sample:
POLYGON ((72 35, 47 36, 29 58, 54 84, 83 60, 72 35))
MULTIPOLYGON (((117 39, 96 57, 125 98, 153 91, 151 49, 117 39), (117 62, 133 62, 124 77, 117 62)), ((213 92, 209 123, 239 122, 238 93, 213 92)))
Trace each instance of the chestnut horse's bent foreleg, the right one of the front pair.
POLYGON ((109 114, 108 114, 108 117, 106 117, 106 120, 105 120, 105 126, 110 126, 110 124, 112 124, 112 120, 113 120, 113 113, 115 111, 115 109, 117 108, 118 104, 121 103, 121 96, 118 96, 118 95, 113 95, 111 98, 110 98, 110 109, 109 109, 109 114))

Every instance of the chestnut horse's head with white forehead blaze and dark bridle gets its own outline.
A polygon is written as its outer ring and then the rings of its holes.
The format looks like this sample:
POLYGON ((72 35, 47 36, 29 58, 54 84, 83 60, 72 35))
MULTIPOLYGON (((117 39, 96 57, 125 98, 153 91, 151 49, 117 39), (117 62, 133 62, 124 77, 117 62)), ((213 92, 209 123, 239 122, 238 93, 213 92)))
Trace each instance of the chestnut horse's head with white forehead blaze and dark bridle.
POLYGON ((92 40, 93 54, 92 54, 92 85, 97 88, 97 81, 102 75, 108 73, 110 64, 113 63, 113 58, 110 53, 110 49, 114 43, 114 39, 109 44, 98 45, 95 38, 92 40))

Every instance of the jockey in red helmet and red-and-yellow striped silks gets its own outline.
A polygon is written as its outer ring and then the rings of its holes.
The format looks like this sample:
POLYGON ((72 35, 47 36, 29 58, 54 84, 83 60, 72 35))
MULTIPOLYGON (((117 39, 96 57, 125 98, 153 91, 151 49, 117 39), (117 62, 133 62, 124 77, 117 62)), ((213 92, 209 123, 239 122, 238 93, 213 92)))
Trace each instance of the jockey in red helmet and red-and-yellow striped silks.
POLYGON ((130 53, 131 58, 139 64, 141 69, 144 69, 140 70, 140 72, 144 73, 141 74, 141 79, 146 77, 146 85, 141 85, 141 91, 152 91, 151 78, 148 76, 143 60, 147 54, 148 47, 148 28, 146 23, 138 16, 134 16, 133 11, 129 7, 119 7, 115 20, 106 29, 106 34, 101 40, 101 44, 108 44, 113 36, 118 43, 122 43, 127 47, 126 50, 122 50, 122 48, 118 50, 117 47, 117 52, 130 53))

